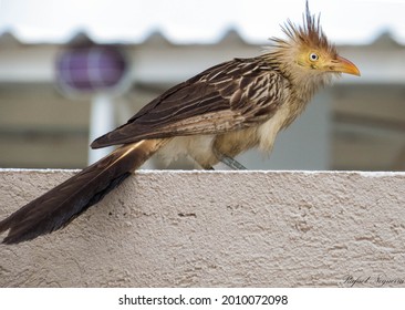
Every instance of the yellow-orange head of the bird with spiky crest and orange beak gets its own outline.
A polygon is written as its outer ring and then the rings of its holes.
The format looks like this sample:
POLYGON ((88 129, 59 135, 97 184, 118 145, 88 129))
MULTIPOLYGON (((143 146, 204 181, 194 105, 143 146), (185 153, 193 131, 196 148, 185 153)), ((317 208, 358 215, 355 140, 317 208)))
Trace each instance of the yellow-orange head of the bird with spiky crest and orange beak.
POLYGON ((303 24, 290 20, 282 27, 287 39, 272 38, 271 52, 280 69, 295 81, 311 78, 328 82, 334 74, 360 75, 359 69, 338 54, 334 44, 328 41, 320 25, 319 17, 311 16, 307 2, 303 24), (333 73, 333 74, 330 74, 333 73))

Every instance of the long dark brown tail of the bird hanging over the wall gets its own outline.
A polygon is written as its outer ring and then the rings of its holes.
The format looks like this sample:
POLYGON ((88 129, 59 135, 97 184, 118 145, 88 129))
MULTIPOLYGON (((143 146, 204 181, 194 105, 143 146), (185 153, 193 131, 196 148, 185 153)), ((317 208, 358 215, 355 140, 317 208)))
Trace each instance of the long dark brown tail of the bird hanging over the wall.
POLYGON ((124 145, 0 221, 9 229, 3 244, 18 244, 52 232, 96 204, 149 158, 165 140, 124 145))

